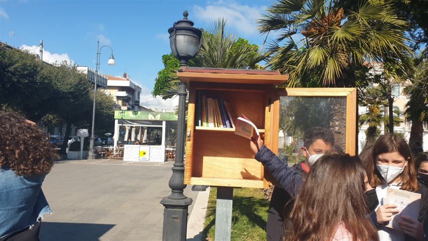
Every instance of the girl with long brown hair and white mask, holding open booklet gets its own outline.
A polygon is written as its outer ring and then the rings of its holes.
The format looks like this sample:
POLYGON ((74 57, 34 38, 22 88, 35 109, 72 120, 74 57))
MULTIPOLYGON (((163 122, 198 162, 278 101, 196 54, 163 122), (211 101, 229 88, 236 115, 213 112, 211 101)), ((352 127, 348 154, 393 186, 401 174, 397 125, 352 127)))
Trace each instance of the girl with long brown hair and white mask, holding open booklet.
POLYGON ((369 184, 376 188, 380 201, 376 208, 377 228, 380 241, 422 240, 423 225, 418 217, 404 217, 399 222, 404 232, 386 228, 385 222, 391 221, 391 216, 398 212, 394 204, 384 204, 387 187, 418 191, 417 173, 409 145, 402 137, 385 134, 370 147, 368 160, 365 161, 369 184))

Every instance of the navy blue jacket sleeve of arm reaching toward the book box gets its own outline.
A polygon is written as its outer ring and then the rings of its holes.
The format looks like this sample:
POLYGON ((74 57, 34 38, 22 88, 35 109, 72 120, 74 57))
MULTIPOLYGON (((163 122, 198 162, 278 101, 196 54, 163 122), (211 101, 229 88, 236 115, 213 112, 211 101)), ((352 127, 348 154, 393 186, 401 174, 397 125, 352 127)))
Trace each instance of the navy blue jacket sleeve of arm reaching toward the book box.
POLYGON ((272 174, 285 191, 296 197, 303 186, 302 176, 263 145, 254 157, 272 174))

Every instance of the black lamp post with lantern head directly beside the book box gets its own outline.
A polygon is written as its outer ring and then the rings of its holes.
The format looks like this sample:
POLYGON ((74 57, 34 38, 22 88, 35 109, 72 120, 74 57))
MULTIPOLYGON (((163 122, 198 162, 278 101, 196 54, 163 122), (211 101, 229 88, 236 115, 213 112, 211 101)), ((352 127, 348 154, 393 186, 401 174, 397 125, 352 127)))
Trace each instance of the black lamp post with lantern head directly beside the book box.
MULTIPOLYGON (((202 31, 193 27, 193 22, 187 19, 189 14, 183 12, 184 18, 174 23, 168 29, 170 47, 174 55, 180 61, 179 71, 187 66, 187 62, 193 58, 200 48, 202 31)), ((171 195, 164 197, 160 202, 164 207, 163 241, 185 241, 187 232, 188 207, 192 199, 183 194, 186 188, 184 184, 184 142, 186 133, 186 83, 179 83, 179 105, 177 123, 176 160, 172 167, 172 176, 169 180, 171 195)))

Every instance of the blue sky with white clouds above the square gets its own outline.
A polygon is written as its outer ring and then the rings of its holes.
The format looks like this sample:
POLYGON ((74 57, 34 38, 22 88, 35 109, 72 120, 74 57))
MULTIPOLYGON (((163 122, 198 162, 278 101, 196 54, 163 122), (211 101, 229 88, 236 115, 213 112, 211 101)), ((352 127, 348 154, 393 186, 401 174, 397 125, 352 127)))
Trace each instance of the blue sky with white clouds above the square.
POLYGON ((261 44, 255 20, 270 0, 0 0, 0 41, 37 51, 44 43, 44 60, 69 59, 95 67, 97 39, 113 48, 115 66, 108 66, 104 48, 100 71, 113 76, 123 72, 143 88, 142 101, 170 52, 168 28, 189 11, 195 27, 208 28, 218 17, 227 18, 227 30, 261 44), (10 38, 9 33, 14 36, 10 38), (48 53, 49 52, 49 53, 48 53))

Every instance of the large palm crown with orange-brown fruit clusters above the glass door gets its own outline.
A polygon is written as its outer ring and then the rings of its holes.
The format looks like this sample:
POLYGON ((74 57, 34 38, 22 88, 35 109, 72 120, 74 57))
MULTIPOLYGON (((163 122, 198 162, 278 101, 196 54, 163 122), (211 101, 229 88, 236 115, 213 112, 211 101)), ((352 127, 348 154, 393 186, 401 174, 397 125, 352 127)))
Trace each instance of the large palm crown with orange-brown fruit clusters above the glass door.
POLYGON ((411 51, 404 43, 407 22, 393 6, 364 2, 353 11, 339 4, 278 0, 258 20, 261 33, 279 33, 269 48, 269 67, 290 74, 289 87, 361 85, 366 61, 388 60, 403 70, 401 60, 411 51))

